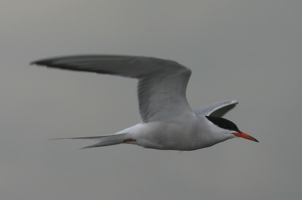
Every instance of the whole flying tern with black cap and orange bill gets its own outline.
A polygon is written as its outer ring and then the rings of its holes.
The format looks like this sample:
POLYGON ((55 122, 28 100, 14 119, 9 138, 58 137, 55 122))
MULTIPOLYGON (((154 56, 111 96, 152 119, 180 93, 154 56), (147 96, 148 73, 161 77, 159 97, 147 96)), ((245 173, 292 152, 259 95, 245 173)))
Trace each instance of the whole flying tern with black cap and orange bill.
POLYGON ((172 60, 127 55, 75 55, 33 61, 51 68, 86 71, 138 79, 141 122, 111 135, 58 139, 94 140, 80 149, 135 144, 158 150, 191 151, 242 137, 259 142, 222 118, 238 104, 216 102, 192 110, 186 98, 191 69, 172 60))

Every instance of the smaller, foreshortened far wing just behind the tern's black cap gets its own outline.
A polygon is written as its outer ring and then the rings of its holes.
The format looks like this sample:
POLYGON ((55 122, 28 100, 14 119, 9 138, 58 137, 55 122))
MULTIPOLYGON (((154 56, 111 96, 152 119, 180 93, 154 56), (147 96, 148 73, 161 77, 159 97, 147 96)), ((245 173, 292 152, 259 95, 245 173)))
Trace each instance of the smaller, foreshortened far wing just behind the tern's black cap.
POLYGON ((236 104, 238 104, 238 101, 235 100, 216 102, 213 104, 205 105, 201 108, 197 108, 194 110, 194 113, 196 115, 222 117, 228 111, 233 109, 236 106, 236 104))

